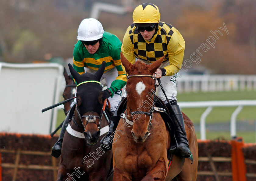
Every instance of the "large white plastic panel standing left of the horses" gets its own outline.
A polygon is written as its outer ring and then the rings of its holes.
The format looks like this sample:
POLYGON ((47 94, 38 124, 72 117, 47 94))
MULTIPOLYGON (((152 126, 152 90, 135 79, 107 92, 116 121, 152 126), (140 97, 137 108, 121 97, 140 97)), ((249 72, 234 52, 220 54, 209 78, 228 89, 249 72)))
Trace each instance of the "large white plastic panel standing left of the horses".
POLYGON ((56 125, 63 67, 0 63, 0 132, 49 134, 56 125))

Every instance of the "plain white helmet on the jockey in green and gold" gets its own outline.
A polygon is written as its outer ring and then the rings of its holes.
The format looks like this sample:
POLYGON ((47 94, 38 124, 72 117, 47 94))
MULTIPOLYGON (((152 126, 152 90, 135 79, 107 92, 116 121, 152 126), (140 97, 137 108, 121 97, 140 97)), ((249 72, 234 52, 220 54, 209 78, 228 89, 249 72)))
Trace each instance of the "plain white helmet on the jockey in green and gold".
POLYGON ((102 38, 104 30, 98 20, 88 18, 80 23, 77 33, 78 40, 93 41, 102 38))

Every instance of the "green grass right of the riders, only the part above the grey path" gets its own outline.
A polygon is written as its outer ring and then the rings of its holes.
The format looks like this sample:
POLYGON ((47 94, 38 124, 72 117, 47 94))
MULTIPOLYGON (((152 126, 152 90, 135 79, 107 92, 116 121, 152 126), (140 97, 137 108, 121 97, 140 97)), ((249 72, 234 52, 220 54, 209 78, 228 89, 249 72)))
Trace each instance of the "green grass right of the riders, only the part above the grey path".
MULTIPOLYGON (((256 100, 255 91, 231 91, 231 92, 198 92, 177 95, 178 104, 182 101, 226 101, 226 100, 256 100)), ((231 114, 236 107, 215 107, 206 118, 206 123, 218 123, 230 121, 231 114)), ((206 108, 183 108, 182 111, 194 122, 199 123, 200 117, 206 108)), ((255 121, 255 106, 244 106, 237 116, 237 121, 255 121)))

